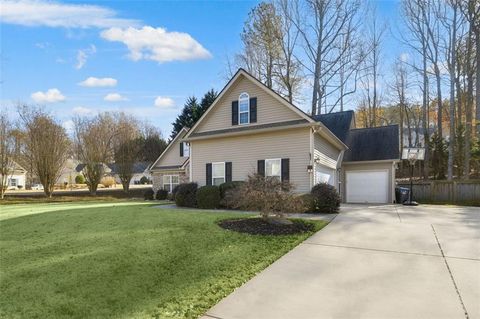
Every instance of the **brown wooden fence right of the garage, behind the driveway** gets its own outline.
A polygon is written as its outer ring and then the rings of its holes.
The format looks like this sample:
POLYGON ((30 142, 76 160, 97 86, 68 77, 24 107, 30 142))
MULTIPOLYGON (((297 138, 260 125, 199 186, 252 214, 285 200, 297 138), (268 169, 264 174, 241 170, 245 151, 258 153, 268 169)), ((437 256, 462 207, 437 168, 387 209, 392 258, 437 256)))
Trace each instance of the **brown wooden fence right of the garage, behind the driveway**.
MULTIPOLYGON (((402 181, 398 186, 410 187, 410 183, 402 181)), ((480 205, 480 180, 414 182, 413 197, 419 202, 480 205)))

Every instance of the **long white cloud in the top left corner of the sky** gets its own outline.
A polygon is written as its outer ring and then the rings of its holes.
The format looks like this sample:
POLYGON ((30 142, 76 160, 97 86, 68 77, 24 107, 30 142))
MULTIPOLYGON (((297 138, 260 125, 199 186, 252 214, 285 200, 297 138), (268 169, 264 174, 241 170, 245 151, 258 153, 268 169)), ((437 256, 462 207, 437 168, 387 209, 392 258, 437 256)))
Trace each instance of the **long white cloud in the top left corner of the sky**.
POLYGON ((24 26, 110 28, 138 25, 136 20, 117 18, 117 13, 106 7, 45 0, 3 0, 0 18, 2 23, 24 26))

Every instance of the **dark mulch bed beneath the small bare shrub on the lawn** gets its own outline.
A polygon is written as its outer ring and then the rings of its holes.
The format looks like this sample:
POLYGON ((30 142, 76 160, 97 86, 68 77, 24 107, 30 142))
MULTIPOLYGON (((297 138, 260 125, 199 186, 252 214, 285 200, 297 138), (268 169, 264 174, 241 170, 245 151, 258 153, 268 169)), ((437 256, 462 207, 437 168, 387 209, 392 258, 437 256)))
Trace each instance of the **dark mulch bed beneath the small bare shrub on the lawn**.
POLYGON ((283 225, 267 222, 262 218, 226 219, 218 222, 224 229, 251 235, 292 235, 314 230, 314 225, 292 220, 292 224, 283 225))

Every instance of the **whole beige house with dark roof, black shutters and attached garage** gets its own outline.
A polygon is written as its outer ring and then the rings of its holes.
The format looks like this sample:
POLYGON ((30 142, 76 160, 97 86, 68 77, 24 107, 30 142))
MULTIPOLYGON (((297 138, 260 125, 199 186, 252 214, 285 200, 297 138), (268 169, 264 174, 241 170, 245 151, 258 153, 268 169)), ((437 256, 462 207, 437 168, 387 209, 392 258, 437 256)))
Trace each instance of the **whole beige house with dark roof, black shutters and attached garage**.
POLYGON ((151 167, 154 188, 245 180, 259 173, 299 193, 317 183, 350 203, 394 201, 398 126, 357 129, 353 111, 310 116, 243 69, 151 167))

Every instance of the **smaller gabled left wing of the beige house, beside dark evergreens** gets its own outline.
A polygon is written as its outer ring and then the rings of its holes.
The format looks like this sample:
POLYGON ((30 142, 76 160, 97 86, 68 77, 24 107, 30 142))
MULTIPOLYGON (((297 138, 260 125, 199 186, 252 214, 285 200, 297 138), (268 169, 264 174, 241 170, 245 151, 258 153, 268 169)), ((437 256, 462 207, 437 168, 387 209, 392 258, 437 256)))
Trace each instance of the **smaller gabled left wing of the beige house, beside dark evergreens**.
POLYGON ((155 191, 162 188, 171 192, 178 184, 190 180, 190 147, 182 141, 187 132, 183 128, 150 167, 155 191))

